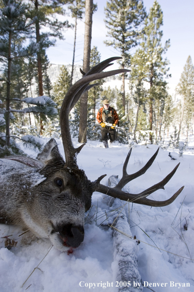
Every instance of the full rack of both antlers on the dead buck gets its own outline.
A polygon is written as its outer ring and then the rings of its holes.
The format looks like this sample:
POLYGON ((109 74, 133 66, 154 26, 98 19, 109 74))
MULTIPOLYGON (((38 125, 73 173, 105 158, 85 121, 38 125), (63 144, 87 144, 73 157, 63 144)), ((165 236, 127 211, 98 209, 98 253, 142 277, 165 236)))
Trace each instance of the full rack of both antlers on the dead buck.
MULTIPOLYGON (((101 72, 108 66, 112 65, 112 61, 121 59, 121 57, 113 57, 109 58, 107 60, 104 60, 94 66, 92 69, 90 69, 87 73, 83 72, 81 70, 81 73, 84 75, 84 77, 80 80, 78 80, 67 92, 62 106, 61 106, 61 113, 60 113, 60 124, 61 124, 61 136, 62 136, 62 141, 63 141, 63 146, 64 146, 64 151, 65 151, 65 158, 66 158, 66 164, 65 167, 68 168, 77 168, 77 163, 76 163, 76 155, 80 152, 82 147, 85 145, 81 145, 78 148, 74 148, 72 144, 72 139, 70 135, 70 129, 69 129, 69 113, 72 110, 73 106, 76 104, 76 102, 79 100, 81 95, 92 88, 93 86, 97 85, 89 85, 90 82, 105 78, 108 76, 112 76, 115 74, 120 74, 123 72, 129 72, 130 70, 126 69, 118 69, 118 70, 112 70, 112 71, 107 71, 107 72, 101 72)), ((149 200, 146 199, 148 195, 151 193, 155 192, 158 189, 164 189, 164 186, 167 184, 167 182, 170 180, 170 178, 174 175, 176 172, 179 164, 171 171, 169 175, 167 175, 162 181, 159 183, 153 185, 152 187, 146 189, 145 191, 141 192, 140 194, 129 194, 121 189, 132 179, 135 179, 136 177, 145 174, 147 169, 152 165, 154 159, 156 158, 156 155, 158 154, 159 148, 156 151, 156 153, 149 159, 149 161, 145 164, 145 166, 138 171, 135 174, 128 175, 126 168, 127 164, 131 155, 131 149, 126 157, 126 160, 123 165, 123 174, 120 182, 114 187, 114 188, 109 188, 105 185, 100 184, 100 180, 105 176, 101 175, 95 182, 93 182, 93 190, 98 191, 100 193, 109 195, 114 198, 119 198, 124 201, 129 201, 129 202, 134 202, 137 204, 145 204, 149 206, 166 206, 168 204, 171 204, 181 193, 183 190, 184 186, 181 187, 169 200, 166 201, 154 201, 154 200, 149 200)))

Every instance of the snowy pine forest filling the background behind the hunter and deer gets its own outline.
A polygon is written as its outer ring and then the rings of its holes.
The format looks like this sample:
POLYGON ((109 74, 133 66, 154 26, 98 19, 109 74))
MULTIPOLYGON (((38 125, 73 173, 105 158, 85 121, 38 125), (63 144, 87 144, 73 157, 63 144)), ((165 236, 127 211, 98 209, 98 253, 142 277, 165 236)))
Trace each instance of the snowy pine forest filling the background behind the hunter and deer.
MULTIPOLYGON (((168 92, 170 62, 165 58, 170 40, 163 45, 163 11, 159 2, 154 0, 149 13, 143 1, 138 0, 133 5, 127 0, 107 1, 104 10, 107 29, 104 43, 119 52, 122 57, 119 67, 131 71, 119 77, 121 88, 105 87, 106 80, 99 80, 80 99, 70 114, 72 136, 79 142, 100 140, 96 115, 102 100, 107 98, 129 138, 120 131, 117 138, 120 143, 128 144, 130 140, 132 144, 178 147, 180 136, 184 135, 187 146, 188 136, 193 134, 194 65, 188 56, 172 98, 168 92), (86 137, 83 129, 87 129, 86 137)), ((19 141, 41 149, 38 138, 60 137, 60 108, 73 84, 78 20, 87 15, 92 19, 96 11, 97 4, 87 0, 0 1, 1 157, 20 153, 19 141), (89 11, 87 2, 92 5, 89 11), (64 20, 67 14, 71 15, 71 23, 64 20), (64 29, 71 29, 74 35, 71 70, 61 65, 53 84, 48 74, 51 64, 47 50, 55 46, 57 39, 64 38, 64 29)), ((92 30, 92 21, 89 24, 92 30)), ((87 60, 83 71, 102 61, 97 44, 91 48, 91 38, 84 40, 86 45, 89 50, 83 57, 87 60)))

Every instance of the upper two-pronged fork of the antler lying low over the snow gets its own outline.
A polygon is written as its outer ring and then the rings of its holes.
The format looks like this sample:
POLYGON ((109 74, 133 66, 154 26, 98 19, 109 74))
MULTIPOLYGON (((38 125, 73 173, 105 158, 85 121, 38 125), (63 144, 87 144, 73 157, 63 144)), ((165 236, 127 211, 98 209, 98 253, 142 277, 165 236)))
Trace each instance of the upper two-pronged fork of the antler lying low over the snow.
MULTIPOLYGON (((160 148, 160 147, 159 147, 160 148)), ((148 160, 148 162, 145 164, 145 166, 139 170, 137 173, 135 174, 132 174, 132 175, 128 175, 127 174, 127 171, 126 171, 126 168, 127 168, 127 164, 128 164, 128 161, 129 161, 129 158, 130 158, 130 155, 131 155, 131 151, 132 151, 132 148, 129 150, 129 153, 127 154, 127 157, 125 159, 125 162, 124 162, 124 165, 123 165, 123 170, 122 170, 122 178, 121 180, 119 181, 119 183, 115 186, 115 189, 122 189, 125 184, 127 184, 129 181, 137 178, 138 176, 140 175, 144 175, 145 172, 148 170, 148 168, 152 165, 152 163, 154 162, 157 154, 158 154, 158 151, 159 151, 159 148, 157 149, 157 151, 154 153, 154 155, 148 160)))

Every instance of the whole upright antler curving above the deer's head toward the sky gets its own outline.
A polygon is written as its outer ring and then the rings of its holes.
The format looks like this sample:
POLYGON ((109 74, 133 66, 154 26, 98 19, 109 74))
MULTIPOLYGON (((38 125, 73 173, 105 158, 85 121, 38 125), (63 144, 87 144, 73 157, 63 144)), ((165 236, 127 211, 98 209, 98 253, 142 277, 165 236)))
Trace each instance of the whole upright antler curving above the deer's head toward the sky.
MULTIPOLYGON (((90 82, 105 78, 108 76, 112 76, 115 74, 120 74, 123 72, 129 72, 130 70, 127 69, 118 69, 118 70, 112 70, 112 71, 107 71, 107 72, 101 72, 108 66, 112 65, 110 62, 121 59, 121 57, 113 57, 109 58, 107 60, 104 60, 94 66, 90 71, 88 71, 84 77, 80 80, 78 80, 67 92, 62 106, 61 106, 61 112, 60 112, 60 125, 61 125, 61 136, 62 136, 62 141, 63 141, 63 147, 65 151, 65 167, 70 167, 70 168, 76 168, 77 163, 76 163, 76 155, 80 152, 82 147, 85 144, 82 144, 78 148, 74 148, 72 144, 72 139, 70 135, 70 129, 69 129, 69 113, 75 103, 79 100, 81 97, 82 93, 89 90, 92 86, 88 86, 90 82), (101 72, 101 73, 99 73, 101 72)), ((84 72, 83 72, 84 74, 84 72)))

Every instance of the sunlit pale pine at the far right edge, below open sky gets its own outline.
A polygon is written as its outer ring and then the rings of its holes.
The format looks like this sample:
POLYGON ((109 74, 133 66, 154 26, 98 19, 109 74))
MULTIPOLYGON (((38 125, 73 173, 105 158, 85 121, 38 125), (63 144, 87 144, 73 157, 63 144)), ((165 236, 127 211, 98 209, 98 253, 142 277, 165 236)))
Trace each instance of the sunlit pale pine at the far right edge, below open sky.
POLYGON ((188 130, 191 125, 192 113, 194 113, 194 65, 192 63, 191 56, 187 58, 180 81, 176 87, 176 92, 180 94, 182 99, 181 116, 177 138, 177 141, 179 141, 183 118, 185 117, 188 135, 188 130))

